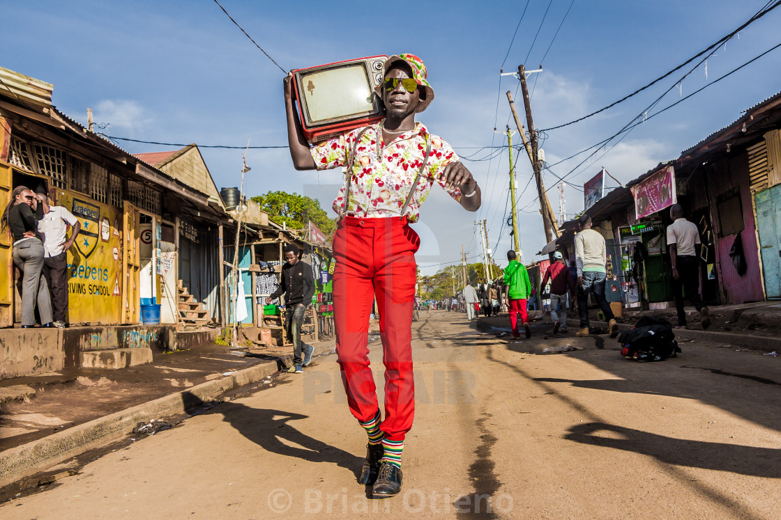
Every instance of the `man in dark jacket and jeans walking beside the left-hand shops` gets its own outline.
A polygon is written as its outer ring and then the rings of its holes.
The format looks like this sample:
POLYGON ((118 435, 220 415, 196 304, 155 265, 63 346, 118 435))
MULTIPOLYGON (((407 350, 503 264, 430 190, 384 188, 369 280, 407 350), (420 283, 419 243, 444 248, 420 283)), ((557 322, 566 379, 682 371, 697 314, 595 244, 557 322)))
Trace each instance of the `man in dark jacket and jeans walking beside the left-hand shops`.
POLYGON ((293 342, 293 364, 286 372, 301 373, 304 371, 303 367, 312 361, 312 352, 315 350, 312 345, 306 345, 301 341, 301 324, 304 323, 306 307, 312 302, 312 295, 315 294, 315 277, 312 275, 312 266, 298 259, 298 246, 288 244, 285 246, 284 253, 286 262, 282 267, 282 283, 266 298, 266 305, 284 293, 285 334, 287 334, 287 341, 293 342))

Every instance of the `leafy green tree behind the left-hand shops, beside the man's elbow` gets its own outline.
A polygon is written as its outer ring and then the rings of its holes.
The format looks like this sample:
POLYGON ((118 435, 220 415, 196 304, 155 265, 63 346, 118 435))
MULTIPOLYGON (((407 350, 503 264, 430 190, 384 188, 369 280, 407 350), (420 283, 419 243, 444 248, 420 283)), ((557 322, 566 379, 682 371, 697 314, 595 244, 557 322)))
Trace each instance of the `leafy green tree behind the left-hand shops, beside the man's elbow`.
POLYGON ((336 219, 328 218, 326 210, 320 207, 320 201, 317 199, 298 193, 273 191, 253 196, 252 200, 259 203, 271 220, 277 224, 284 221, 288 228, 304 229, 309 221, 312 221, 329 237, 336 230, 336 219))

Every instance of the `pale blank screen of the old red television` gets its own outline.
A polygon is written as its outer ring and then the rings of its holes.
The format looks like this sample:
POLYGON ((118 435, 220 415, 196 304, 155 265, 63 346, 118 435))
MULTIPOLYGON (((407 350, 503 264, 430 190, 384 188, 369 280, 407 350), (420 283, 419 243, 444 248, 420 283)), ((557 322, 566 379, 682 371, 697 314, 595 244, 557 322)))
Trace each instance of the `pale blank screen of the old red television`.
POLYGON ((312 125, 368 114, 374 108, 373 91, 362 63, 301 74, 301 86, 312 125))

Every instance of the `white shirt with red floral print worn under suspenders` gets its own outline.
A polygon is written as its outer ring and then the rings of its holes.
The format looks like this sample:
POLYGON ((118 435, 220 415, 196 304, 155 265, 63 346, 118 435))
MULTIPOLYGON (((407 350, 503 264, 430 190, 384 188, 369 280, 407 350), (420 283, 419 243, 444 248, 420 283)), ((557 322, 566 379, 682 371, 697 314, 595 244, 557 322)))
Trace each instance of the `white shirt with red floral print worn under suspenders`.
MULTIPOLYGON (((333 201, 333 210, 337 214, 357 217, 383 218, 401 216, 412 182, 418 174, 423 157, 426 154, 426 142, 431 143, 431 152, 426 168, 420 175, 415 195, 407 207, 407 218, 415 222, 420 217, 420 205, 426 200, 431 186, 438 182, 455 200, 461 200, 458 188, 448 188, 441 180, 445 166, 458 161, 458 155, 441 137, 432 136, 416 122, 415 129, 402 133, 391 143, 383 143, 382 122, 370 126, 361 136, 355 148, 352 182, 348 208, 344 210, 344 198, 347 191, 347 177, 333 201)), ((312 158, 318 170, 347 168, 348 154, 352 144, 362 128, 343 133, 333 139, 319 143, 312 148, 312 158)))

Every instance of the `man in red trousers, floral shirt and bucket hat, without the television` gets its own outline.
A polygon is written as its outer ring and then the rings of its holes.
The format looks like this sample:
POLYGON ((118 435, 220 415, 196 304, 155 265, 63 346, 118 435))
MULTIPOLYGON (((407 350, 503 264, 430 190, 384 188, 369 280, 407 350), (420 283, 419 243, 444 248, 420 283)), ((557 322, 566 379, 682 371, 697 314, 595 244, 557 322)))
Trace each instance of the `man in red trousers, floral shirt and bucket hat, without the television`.
POLYGON ((385 104, 386 119, 312 149, 294 110, 292 76, 284 80, 294 167, 351 170, 333 203, 341 215, 333 236, 333 309, 348 405, 369 436, 358 482, 372 485, 375 497, 401 490, 401 452, 415 410, 411 341, 420 239, 409 223, 418 220, 434 182, 465 210, 480 208, 480 188, 469 170, 448 143, 415 122, 415 114, 434 98, 423 61, 411 54, 394 55, 383 70, 383 83, 375 93, 385 104), (367 357, 375 296, 385 365, 384 419, 367 357))

